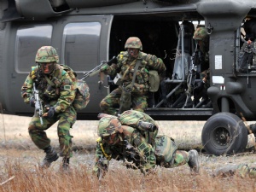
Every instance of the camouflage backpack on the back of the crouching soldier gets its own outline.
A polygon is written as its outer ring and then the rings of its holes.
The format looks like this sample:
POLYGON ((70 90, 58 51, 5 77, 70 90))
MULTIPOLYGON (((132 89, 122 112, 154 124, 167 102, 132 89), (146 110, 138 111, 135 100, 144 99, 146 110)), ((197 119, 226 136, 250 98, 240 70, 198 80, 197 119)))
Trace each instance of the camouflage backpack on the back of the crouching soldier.
POLYGON ((154 147, 154 140, 158 133, 159 125, 157 125, 154 119, 152 119, 148 114, 135 110, 127 110, 124 113, 119 114, 118 119, 121 125, 128 125, 139 130, 148 143, 154 147), (157 129, 154 132, 145 131, 144 127, 139 124, 140 121, 151 123, 155 125, 157 129))

